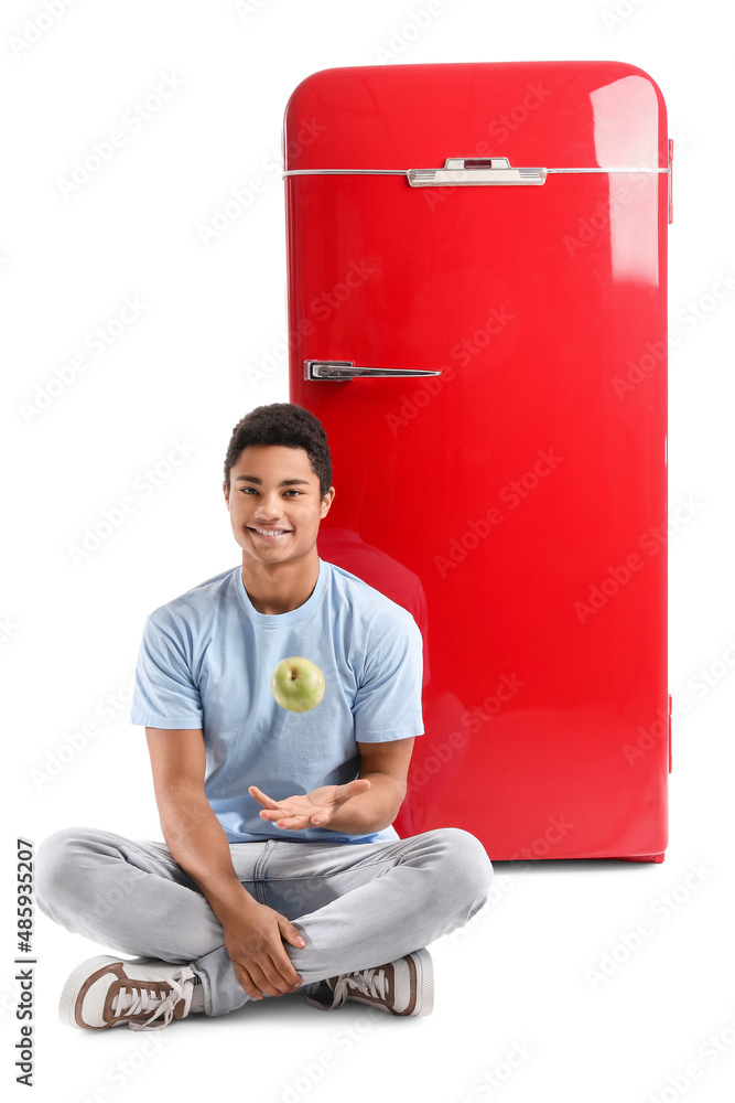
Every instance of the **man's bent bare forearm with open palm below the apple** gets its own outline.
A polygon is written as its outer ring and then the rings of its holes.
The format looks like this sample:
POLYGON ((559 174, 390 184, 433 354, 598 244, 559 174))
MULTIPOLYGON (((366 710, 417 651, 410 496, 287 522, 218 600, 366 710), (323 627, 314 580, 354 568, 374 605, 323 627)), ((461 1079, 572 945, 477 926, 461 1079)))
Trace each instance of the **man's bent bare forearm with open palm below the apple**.
POLYGON ((346 785, 323 785, 283 801, 274 801, 251 785, 250 795, 264 808, 261 818, 288 831, 327 827, 345 835, 367 835, 392 824, 406 796, 413 737, 357 746, 359 777, 346 785))

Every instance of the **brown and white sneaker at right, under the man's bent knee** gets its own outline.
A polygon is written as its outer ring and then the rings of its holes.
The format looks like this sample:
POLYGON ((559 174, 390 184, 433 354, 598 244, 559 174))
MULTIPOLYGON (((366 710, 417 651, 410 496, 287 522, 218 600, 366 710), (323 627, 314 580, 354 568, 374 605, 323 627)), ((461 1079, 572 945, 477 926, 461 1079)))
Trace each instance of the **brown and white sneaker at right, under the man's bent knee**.
POLYGON ((434 1006, 431 955, 428 950, 415 950, 387 965, 332 976, 321 981, 305 999, 324 1011, 356 999, 390 1015, 429 1015, 434 1006))

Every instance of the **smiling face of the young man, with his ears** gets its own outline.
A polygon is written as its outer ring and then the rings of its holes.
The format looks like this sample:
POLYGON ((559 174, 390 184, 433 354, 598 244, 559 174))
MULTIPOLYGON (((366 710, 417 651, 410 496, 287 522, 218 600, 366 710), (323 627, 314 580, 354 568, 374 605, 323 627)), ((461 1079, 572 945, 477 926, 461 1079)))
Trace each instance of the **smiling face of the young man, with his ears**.
POLYGON ((320 496, 318 478, 303 448, 258 445, 244 449, 224 484, 235 539, 256 564, 284 564, 316 556, 320 522, 329 512, 331 486, 320 496))

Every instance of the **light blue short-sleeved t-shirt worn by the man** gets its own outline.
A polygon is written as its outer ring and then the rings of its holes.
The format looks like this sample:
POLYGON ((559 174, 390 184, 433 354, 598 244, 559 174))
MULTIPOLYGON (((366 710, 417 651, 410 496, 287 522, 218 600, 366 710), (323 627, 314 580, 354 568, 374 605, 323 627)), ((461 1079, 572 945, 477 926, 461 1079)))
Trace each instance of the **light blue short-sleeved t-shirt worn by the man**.
POLYGON ((421 675, 421 633, 411 614, 349 571, 320 559, 309 599, 269 614, 252 606, 238 566, 148 618, 130 722, 203 729, 205 793, 230 843, 394 839, 393 827, 368 835, 283 831, 260 818, 248 785, 278 801, 352 781, 358 741, 423 733, 421 675), (270 692, 274 666, 292 655, 324 674, 324 697, 309 713, 287 711, 270 692))

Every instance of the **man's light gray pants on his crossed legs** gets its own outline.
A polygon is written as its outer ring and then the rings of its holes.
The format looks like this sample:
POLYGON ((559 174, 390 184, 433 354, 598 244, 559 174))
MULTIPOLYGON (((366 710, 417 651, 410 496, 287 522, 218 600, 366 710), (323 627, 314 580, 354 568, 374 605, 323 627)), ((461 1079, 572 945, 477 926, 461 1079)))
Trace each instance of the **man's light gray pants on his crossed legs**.
MULTIPOLYGON (((466 923, 493 866, 468 832, 443 827, 383 843, 230 844, 241 884, 285 915, 306 945, 284 943, 303 987, 383 965, 466 923)), ((39 907, 116 953, 190 965, 207 1015, 250 1000, 206 898, 163 843, 71 827, 36 855, 39 907)))

